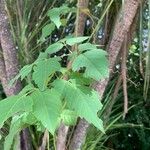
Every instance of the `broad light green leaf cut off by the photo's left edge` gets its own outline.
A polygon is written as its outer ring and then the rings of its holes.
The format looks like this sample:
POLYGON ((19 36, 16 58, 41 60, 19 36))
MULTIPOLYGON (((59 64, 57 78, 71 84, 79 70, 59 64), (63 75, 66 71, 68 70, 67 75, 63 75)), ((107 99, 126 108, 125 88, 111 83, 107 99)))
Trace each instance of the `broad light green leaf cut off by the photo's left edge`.
POLYGON ((0 101, 0 127, 9 117, 18 112, 30 112, 32 104, 29 96, 11 96, 0 101))

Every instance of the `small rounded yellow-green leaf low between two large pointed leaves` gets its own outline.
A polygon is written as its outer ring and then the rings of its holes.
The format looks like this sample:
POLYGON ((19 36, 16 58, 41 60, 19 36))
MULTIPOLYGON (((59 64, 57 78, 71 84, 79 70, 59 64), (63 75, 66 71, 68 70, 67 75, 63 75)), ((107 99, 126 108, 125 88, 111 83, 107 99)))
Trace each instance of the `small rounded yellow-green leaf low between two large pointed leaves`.
POLYGON ((74 111, 65 109, 61 114, 61 119, 67 126, 75 125, 77 122, 77 114, 74 111))

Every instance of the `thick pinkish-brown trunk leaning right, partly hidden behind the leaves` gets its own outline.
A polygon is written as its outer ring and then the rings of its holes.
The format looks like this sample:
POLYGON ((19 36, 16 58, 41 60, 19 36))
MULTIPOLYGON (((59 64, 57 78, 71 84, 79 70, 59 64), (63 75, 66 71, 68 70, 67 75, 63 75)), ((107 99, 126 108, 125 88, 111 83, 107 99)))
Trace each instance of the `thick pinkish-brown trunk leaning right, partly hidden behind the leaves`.
MULTIPOLYGON (((120 15, 117 19, 111 42, 107 48, 110 74, 113 72, 114 65, 116 63, 118 54, 121 50, 124 41, 124 36, 127 35, 127 33, 129 32, 130 26, 137 13, 139 4, 140 4, 139 0, 126 0, 124 6, 121 9, 122 16, 120 15)), ((93 85, 93 87, 96 89, 96 91, 98 91, 101 97, 104 94, 108 82, 109 82, 109 78, 96 82, 93 85)), ((88 126, 89 124, 85 120, 80 120, 74 132, 74 136, 71 141, 70 150, 81 149, 81 146, 86 136, 88 126)))

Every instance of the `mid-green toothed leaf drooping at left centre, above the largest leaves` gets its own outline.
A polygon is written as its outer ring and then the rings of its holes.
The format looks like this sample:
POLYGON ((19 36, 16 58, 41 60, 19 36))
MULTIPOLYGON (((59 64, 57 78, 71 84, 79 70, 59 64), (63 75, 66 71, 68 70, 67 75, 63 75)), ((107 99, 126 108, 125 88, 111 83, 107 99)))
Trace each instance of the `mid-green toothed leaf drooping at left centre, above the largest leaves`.
POLYGON ((56 57, 44 59, 33 67, 34 72, 32 74, 32 79, 41 91, 47 88, 49 77, 56 71, 60 71, 61 66, 58 60, 59 59, 56 57))

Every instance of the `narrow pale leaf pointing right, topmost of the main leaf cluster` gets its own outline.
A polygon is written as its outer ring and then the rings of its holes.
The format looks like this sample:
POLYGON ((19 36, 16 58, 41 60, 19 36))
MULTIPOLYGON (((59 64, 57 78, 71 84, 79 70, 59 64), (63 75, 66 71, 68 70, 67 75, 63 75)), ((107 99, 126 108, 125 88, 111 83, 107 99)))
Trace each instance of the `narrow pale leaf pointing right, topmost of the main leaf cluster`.
POLYGON ((89 36, 67 38, 66 39, 66 44, 72 46, 74 44, 81 43, 81 42, 87 40, 88 38, 89 38, 89 36))

